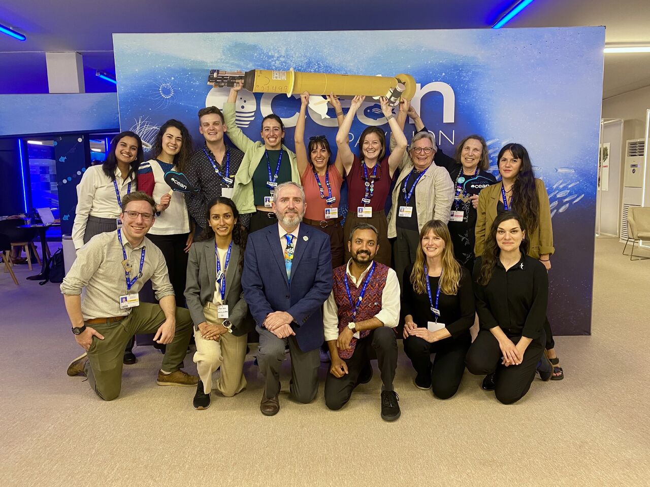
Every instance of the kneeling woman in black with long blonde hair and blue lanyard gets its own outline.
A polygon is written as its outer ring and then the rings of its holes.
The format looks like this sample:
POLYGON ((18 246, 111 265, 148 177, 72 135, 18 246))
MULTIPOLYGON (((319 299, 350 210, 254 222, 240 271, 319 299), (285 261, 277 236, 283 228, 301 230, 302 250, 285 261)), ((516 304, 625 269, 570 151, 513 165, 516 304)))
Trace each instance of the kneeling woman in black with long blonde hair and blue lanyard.
POLYGON ((469 271, 454 258, 445 223, 424 224, 415 264, 406 268, 403 282, 404 351, 417 372, 415 386, 432 388, 436 397, 448 399, 465 371, 474 294, 469 271))

